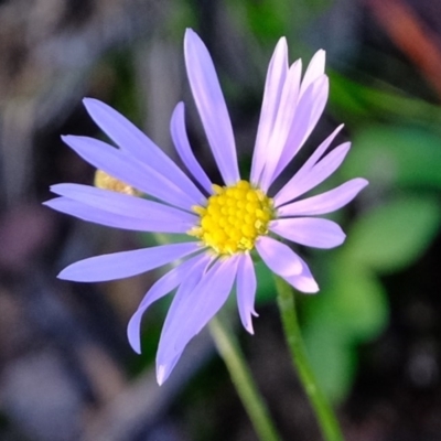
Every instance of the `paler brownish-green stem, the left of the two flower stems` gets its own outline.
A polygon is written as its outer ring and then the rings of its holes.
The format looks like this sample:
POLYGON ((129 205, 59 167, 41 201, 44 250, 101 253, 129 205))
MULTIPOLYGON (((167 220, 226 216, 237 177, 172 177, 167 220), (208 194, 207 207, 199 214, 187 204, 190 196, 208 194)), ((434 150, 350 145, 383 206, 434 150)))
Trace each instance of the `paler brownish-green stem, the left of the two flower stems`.
POLYGON ((222 320, 220 314, 212 319, 209 331, 258 438, 262 441, 281 440, 252 379, 244 354, 240 352, 237 340, 222 320))

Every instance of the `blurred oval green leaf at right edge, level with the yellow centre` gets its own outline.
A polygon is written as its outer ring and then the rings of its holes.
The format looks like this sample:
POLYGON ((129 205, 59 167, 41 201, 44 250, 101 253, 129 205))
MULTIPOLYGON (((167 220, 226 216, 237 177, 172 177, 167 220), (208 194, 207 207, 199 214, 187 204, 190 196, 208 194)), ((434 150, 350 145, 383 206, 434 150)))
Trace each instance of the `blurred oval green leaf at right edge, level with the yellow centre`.
POLYGON ((378 272, 397 271, 417 260, 440 225, 433 197, 399 197, 361 216, 348 233, 348 259, 378 272))

